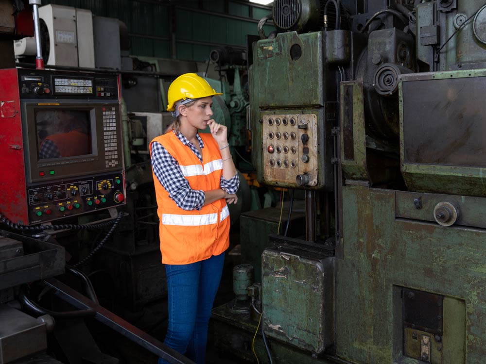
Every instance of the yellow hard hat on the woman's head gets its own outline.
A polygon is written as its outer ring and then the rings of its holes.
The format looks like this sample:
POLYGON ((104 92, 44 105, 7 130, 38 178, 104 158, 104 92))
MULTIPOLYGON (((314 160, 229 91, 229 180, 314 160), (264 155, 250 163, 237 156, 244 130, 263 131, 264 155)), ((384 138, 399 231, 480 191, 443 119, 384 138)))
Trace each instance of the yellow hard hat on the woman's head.
POLYGON ((175 110, 175 103, 185 99, 201 99, 208 96, 223 95, 214 91, 208 81, 195 73, 184 73, 177 77, 167 93, 167 111, 175 110))

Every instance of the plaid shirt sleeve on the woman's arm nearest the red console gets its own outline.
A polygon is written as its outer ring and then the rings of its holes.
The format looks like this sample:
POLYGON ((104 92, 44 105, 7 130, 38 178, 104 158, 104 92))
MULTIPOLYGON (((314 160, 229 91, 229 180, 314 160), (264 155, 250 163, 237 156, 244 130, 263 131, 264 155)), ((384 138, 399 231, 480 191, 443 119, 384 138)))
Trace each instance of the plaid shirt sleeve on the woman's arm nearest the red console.
POLYGON ((183 210, 201 210, 206 200, 204 191, 191 188, 175 158, 157 142, 152 143, 152 168, 158 181, 183 210))

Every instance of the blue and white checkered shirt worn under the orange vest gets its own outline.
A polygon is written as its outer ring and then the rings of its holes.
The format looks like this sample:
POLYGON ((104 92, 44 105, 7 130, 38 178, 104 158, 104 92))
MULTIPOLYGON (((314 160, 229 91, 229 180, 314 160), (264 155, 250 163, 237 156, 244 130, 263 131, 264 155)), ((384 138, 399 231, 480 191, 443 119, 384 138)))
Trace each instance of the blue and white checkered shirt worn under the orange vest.
MULTIPOLYGON (((199 148, 204 148, 204 142, 196 134, 199 140, 199 148)), ((199 150, 187 139, 181 132, 177 134, 177 138, 188 146, 192 152, 203 163, 203 156, 199 150)), ((189 185, 189 181, 182 174, 179 163, 175 158, 158 142, 152 143, 152 168, 160 184, 169 193, 169 197, 183 210, 201 210, 206 200, 204 191, 193 190, 189 185)), ((226 180, 221 176, 220 187, 229 194, 234 194, 240 187, 240 179, 238 172, 226 180)))

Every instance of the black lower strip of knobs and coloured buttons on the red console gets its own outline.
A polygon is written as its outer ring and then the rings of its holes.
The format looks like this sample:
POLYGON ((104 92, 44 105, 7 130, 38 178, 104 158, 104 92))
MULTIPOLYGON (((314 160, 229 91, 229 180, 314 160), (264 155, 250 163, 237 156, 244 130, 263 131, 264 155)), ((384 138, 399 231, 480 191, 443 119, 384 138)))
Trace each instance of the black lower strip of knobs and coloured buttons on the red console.
POLYGON ((121 173, 31 186, 27 190, 29 223, 46 222, 120 205, 125 199, 123 191, 121 173))

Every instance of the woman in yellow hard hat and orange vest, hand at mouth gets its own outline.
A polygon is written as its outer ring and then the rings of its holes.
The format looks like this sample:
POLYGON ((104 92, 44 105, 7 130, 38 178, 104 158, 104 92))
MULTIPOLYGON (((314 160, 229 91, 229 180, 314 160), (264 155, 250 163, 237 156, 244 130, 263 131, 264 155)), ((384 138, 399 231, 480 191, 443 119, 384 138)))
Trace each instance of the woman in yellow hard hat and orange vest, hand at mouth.
POLYGON ((175 79, 167 110, 176 119, 150 144, 169 300, 164 344, 198 364, 205 362, 209 316, 229 246, 226 202, 237 202, 240 184, 227 128, 211 118, 215 95, 222 94, 195 73, 175 79), (198 134, 208 126, 210 134, 198 134))

